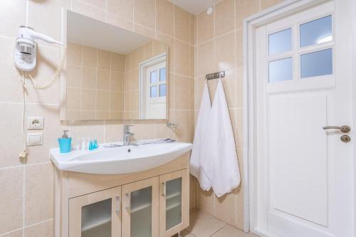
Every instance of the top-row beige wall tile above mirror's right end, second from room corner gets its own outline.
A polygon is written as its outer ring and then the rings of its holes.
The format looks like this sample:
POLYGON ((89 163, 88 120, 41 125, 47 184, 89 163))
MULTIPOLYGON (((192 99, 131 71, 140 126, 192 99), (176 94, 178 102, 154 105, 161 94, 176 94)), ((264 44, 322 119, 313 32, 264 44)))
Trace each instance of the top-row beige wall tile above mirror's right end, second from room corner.
POLYGON ((157 31, 174 34, 174 5, 167 0, 157 0, 157 31))

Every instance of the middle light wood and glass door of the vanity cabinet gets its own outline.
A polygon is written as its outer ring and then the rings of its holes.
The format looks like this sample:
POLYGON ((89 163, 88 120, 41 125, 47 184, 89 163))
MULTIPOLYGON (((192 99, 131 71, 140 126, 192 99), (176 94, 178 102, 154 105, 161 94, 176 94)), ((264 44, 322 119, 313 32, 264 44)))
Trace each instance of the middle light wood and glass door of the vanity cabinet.
POLYGON ((158 237, 158 177, 122 186, 122 236, 158 237))

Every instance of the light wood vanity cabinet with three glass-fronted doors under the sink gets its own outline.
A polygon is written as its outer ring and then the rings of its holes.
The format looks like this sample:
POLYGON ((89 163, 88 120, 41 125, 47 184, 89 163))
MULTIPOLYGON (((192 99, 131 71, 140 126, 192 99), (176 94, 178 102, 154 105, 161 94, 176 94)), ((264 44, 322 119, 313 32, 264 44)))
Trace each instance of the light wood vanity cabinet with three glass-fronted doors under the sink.
POLYGON ((56 237, 170 237, 189 226, 189 157, 120 175, 56 170, 56 237))

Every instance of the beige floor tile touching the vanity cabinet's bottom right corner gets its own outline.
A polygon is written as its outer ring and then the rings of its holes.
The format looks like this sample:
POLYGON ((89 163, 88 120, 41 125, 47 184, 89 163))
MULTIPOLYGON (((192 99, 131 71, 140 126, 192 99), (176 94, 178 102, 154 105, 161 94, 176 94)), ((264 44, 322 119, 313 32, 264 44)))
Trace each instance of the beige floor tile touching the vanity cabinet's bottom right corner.
POLYGON ((194 211, 190 216, 187 231, 195 237, 209 237, 224 226, 226 223, 214 216, 206 214, 204 211, 194 211))

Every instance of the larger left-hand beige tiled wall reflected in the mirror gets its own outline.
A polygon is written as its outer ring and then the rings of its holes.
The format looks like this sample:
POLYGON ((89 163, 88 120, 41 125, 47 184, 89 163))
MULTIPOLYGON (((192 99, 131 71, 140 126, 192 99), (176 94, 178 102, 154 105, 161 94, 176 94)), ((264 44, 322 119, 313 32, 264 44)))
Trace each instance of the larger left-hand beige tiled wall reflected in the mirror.
POLYGON ((68 42, 67 120, 122 120, 124 59, 68 42))

